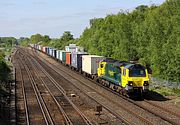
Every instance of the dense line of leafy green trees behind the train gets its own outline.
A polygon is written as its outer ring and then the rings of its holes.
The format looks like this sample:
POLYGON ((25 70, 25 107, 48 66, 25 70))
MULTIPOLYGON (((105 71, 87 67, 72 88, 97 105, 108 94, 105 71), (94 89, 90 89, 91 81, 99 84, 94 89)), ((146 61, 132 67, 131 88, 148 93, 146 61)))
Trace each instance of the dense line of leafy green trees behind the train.
POLYGON ((141 5, 132 12, 91 19, 90 27, 79 39, 64 32, 59 39, 36 34, 26 40, 58 49, 76 43, 90 54, 138 60, 150 65, 153 76, 180 81, 179 0, 168 0, 160 6, 141 5))

